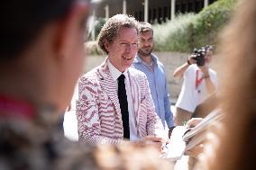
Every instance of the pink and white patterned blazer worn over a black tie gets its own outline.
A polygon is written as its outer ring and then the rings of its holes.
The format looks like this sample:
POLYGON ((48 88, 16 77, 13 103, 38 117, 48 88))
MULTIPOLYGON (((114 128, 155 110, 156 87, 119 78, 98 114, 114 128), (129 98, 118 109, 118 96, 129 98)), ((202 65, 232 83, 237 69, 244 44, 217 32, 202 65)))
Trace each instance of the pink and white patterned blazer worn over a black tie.
MULTIPOLYGON (((105 62, 82 76, 78 83, 78 136, 89 143, 117 144, 123 141, 123 121, 113 77, 105 62)), ((146 76, 128 68, 139 137, 163 130, 154 109, 146 76)))

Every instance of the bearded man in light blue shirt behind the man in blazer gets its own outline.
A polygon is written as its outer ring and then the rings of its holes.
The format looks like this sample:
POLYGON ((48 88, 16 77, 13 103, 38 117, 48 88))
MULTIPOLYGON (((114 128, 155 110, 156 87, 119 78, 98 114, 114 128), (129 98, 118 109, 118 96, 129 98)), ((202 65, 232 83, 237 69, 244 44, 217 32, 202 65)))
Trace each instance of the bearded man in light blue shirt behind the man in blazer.
POLYGON ((147 76, 156 112, 165 128, 167 124, 170 135, 174 126, 173 114, 170 111, 169 86, 163 64, 151 53, 154 46, 153 29, 149 22, 140 22, 138 30, 139 47, 133 67, 147 76))

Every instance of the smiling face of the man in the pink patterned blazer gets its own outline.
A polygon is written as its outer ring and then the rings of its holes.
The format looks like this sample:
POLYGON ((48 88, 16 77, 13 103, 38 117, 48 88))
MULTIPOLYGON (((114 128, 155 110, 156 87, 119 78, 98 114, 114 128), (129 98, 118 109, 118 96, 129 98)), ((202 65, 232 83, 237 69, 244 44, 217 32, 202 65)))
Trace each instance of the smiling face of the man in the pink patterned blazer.
POLYGON ((112 43, 106 42, 110 62, 123 72, 131 67, 138 50, 138 35, 135 28, 120 28, 112 43))

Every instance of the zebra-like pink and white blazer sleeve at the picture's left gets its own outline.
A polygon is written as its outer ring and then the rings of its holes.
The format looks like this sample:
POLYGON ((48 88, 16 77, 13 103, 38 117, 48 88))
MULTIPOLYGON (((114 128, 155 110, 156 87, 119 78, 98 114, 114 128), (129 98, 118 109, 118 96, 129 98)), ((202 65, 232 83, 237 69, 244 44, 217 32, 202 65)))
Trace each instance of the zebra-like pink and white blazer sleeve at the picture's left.
POLYGON ((118 144, 122 139, 110 139, 101 136, 101 126, 98 112, 98 88, 96 78, 83 76, 78 82, 78 138, 91 144, 118 144))

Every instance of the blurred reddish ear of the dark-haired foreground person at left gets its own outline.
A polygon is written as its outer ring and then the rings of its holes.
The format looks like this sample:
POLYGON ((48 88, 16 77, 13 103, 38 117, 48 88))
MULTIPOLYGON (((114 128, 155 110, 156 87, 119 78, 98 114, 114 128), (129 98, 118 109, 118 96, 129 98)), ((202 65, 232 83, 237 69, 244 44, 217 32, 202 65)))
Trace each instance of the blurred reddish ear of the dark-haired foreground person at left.
POLYGON ((58 57, 72 56, 72 48, 78 40, 84 40, 86 33, 89 4, 76 3, 72 5, 69 13, 57 23, 57 32, 54 40, 54 52, 58 57))

